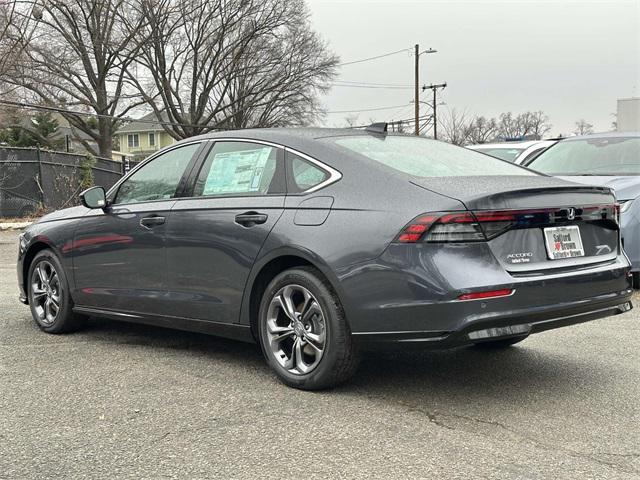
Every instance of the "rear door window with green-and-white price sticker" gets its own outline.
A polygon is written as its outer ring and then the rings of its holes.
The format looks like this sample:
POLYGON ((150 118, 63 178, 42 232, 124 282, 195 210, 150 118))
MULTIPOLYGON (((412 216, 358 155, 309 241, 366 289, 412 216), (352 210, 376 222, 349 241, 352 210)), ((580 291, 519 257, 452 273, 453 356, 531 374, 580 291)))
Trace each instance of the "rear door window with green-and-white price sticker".
POLYGON ((207 155, 194 196, 283 193, 278 148, 250 142, 216 142, 207 155))

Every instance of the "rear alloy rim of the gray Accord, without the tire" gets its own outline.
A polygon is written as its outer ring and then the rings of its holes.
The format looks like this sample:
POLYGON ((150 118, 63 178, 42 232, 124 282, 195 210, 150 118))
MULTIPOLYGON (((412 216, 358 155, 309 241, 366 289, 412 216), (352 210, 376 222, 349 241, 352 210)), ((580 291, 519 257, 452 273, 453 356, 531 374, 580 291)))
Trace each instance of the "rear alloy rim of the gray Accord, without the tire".
POLYGON ((313 294, 301 285, 286 285, 267 310, 267 340, 271 355, 295 375, 315 369, 326 349, 327 322, 313 294))

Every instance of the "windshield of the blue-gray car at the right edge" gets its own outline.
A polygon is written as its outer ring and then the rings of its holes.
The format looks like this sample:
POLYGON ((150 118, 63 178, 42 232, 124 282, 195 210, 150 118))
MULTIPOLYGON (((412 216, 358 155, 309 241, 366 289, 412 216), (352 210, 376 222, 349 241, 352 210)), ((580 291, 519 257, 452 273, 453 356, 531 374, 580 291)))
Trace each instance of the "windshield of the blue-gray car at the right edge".
POLYGON ((528 166, 548 175, 640 175, 640 137, 558 142, 528 166))

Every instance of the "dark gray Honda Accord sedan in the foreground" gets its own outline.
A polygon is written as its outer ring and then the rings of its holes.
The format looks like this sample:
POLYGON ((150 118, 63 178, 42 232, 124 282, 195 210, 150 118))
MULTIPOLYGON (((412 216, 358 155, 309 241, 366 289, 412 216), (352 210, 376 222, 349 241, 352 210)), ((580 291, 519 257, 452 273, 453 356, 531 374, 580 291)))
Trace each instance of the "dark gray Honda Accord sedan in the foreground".
POLYGON ((297 388, 346 380, 363 349, 507 347, 631 308, 609 188, 381 125, 195 137, 81 198, 20 237, 42 330, 257 342, 297 388))

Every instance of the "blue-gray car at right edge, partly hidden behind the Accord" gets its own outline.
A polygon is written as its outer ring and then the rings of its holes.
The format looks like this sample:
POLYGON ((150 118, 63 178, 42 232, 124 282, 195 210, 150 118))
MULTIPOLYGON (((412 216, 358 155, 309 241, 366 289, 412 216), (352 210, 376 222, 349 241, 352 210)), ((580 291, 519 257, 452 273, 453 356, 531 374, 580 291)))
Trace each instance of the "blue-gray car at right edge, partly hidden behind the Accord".
POLYGON ((529 168, 586 185, 610 187, 620 203, 622 245, 640 286, 640 132, 572 137, 543 152, 529 168))

